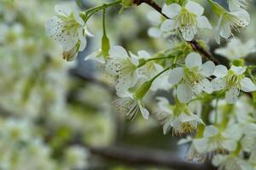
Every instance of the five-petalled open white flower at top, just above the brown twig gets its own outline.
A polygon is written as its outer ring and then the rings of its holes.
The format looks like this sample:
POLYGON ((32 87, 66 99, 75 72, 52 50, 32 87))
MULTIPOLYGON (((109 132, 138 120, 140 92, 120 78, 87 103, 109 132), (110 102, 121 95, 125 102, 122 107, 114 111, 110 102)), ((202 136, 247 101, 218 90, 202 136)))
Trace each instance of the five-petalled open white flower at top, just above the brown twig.
POLYGON ((198 29, 212 29, 207 17, 202 15, 204 8, 193 1, 189 1, 184 7, 181 7, 177 3, 172 3, 169 6, 165 5, 162 13, 166 14, 170 19, 162 23, 160 27, 161 31, 178 29, 186 41, 191 41, 195 37, 198 29))

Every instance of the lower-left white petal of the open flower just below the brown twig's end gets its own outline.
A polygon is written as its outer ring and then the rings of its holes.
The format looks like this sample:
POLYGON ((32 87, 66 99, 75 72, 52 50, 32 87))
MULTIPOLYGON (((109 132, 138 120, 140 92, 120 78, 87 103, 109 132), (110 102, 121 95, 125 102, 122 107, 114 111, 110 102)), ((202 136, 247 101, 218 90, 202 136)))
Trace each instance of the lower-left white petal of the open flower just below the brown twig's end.
POLYGON ((192 89, 187 84, 177 86, 177 99, 182 103, 188 103, 193 96, 192 89))

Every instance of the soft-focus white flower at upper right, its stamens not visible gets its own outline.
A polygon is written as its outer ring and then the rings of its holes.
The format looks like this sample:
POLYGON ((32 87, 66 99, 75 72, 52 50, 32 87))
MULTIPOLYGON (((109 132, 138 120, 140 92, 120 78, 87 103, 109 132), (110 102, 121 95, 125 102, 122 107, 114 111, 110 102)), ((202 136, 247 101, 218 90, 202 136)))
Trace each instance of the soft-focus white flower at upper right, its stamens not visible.
POLYGON ((230 60, 245 58, 256 51, 253 39, 242 43, 238 38, 232 38, 224 48, 217 48, 215 54, 220 54, 230 60))

